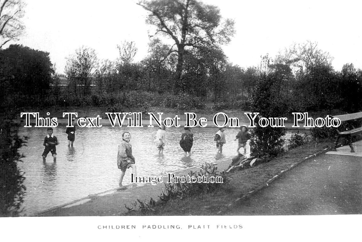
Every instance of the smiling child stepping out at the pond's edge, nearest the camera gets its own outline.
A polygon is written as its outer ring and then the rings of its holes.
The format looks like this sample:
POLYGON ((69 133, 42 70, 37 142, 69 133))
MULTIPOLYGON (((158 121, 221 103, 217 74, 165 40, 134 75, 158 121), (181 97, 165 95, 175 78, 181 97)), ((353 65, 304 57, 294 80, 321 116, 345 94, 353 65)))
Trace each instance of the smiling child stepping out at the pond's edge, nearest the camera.
POLYGON ((117 166, 121 169, 121 177, 119 178, 119 186, 122 187, 123 176, 125 176, 127 168, 132 167, 132 173, 137 176, 135 158, 132 155, 132 146, 130 143, 131 134, 123 132, 122 141, 118 145, 117 166))

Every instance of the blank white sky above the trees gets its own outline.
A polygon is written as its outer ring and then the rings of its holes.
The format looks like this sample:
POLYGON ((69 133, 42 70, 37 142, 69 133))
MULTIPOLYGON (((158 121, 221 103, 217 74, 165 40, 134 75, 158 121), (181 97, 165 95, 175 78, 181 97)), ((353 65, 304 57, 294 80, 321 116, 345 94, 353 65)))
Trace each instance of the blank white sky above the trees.
MULTIPOLYGON (((99 59, 115 60, 117 45, 134 41, 135 61, 147 55, 147 11, 136 0, 24 0, 26 32, 12 42, 50 53, 56 72, 81 46, 92 47, 99 59)), ((340 71, 346 63, 362 69, 360 10, 362 1, 204 0, 224 18, 235 20, 236 34, 224 53, 241 67, 257 66, 261 55, 275 57, 293 43, 317 42, 334 58, 340 71)), ((6 46, 5 46, 6 47, 6 46)))

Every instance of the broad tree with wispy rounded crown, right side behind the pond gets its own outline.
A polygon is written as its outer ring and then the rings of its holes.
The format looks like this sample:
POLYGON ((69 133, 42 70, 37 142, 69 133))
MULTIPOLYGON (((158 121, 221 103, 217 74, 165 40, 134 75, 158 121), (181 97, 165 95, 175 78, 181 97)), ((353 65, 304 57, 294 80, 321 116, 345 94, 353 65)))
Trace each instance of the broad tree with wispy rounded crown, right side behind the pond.
POLYGON ((294 96, 289 105, 294 112, 329 109, 336 103, 332 60, 327 51, 311 41, 294 44, 275 57, 271 67, 280 80, 278 86, 284 89, 282 96, 287 100, 288 96, 294 96))

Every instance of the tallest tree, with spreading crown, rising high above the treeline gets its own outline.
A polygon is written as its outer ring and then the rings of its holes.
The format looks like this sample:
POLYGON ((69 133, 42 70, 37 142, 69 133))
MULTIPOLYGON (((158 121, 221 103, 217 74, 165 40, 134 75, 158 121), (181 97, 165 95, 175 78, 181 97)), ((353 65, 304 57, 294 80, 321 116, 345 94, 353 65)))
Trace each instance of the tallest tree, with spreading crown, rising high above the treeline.
MULTIPOLYGON (((220 9, 196 0, 152 0, 138 3, 150 14, 147 23, 155 35, 170 38, 168 55, 177 53, 175 81, 180 82, 188 49, 227 44, 234 34, 234 22, 223 21, 220 9)), ((173 88, 172 88, 173 91, 173 88)))

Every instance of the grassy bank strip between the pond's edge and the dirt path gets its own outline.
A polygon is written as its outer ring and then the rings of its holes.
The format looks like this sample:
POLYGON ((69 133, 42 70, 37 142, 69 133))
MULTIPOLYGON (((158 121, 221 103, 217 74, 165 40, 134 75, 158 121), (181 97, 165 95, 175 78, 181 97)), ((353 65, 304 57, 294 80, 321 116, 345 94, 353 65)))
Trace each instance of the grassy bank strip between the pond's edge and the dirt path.
MULTIPOLYGON (((308 143, 289 150, 287 153, 262 163, 253 168, 232 171, 231 181, 209 194, 170 200, 167 203, 157 204, 153 210, 141 212, 131 211, 122 215, 222 215, 232 213, 230 206, 236 199, 247 195, 248 192, 265 185, 265 183, 279 174, 282 170, 302 161, 308 155, 322 152, 324 148, 332 146, 331 141, 322 143, 308 143)), ((311 158, 312 159, 312 158, 311 158)), ((237 214, 235 214, 237 215, 237 214)))

